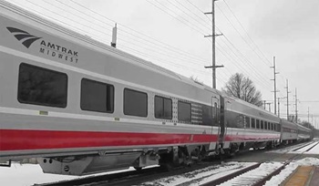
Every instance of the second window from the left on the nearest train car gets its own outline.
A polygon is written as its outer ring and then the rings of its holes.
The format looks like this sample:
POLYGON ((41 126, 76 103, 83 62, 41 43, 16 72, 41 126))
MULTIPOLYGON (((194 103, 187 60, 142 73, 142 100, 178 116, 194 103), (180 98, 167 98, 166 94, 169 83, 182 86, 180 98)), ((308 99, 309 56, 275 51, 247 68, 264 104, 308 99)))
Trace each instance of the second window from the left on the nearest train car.
POLYGON ((114 111, 114 87, 106 83, 82 78, 81 109, 88 111, 114 111))

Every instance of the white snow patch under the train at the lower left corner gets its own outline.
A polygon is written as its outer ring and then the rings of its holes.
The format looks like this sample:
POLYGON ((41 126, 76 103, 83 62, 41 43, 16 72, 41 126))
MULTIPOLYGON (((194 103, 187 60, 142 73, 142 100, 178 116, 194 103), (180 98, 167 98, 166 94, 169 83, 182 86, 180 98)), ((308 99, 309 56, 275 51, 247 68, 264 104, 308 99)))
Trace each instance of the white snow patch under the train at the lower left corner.
MULTIPOLYGON (((132 171, 134 168, 129 168, 132 171)), ((20 164, 13 162, 10 168, 0 167, 0 185, 10 185, 10 186, 29 186, 35 183, 46 183, 55 181, 67 181, 77 178, 84 178, 89 176, 96 176, 101 174, 116 173, 120 171, 109 171, 99 174, 87 175, 87 176, 67 176, 67 175, 57 175, 57 174, 46 174, 43 173, 40 165, 36 164, 20 164)))

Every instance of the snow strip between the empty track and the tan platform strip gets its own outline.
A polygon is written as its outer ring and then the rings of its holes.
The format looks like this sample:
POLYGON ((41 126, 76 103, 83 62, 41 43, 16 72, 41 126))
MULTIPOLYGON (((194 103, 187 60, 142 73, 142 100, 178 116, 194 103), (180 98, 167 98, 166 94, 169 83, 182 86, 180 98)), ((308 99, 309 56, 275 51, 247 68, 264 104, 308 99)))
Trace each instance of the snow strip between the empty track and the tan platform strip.
POLYGON ((273 186, 279 185, 281 182, 285 180, 293 171, 299 166, 319 166, 319 159, 315 158, 305 158, 303 160, 296 160, 289 163, 283 171, 281 171, 278 175, 274 176, 270 181, 267 181, 264 186, 273 186))

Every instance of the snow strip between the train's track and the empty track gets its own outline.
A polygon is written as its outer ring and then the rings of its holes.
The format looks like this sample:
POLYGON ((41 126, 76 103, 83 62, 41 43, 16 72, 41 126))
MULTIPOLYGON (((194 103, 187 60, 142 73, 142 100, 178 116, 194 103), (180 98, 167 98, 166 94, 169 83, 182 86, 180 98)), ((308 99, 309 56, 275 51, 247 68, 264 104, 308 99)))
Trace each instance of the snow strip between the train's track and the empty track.
POLYGON ((224 175, 239 171, 255 164, 254 162, 227 162, 221 165, 214 165, 197 171, 191 171, 178 176, 171 176, 156 181, 145 182, 141 185, 201 185, 208 181, 216 180, 224 175))

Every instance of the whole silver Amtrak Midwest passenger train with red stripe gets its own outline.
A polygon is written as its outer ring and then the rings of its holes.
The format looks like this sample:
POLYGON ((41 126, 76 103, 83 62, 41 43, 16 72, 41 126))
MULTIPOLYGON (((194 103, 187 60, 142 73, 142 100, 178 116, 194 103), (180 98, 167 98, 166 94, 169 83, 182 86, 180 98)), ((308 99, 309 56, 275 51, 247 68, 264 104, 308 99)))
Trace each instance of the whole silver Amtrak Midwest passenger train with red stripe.
POLYGON ((311 130, 0 0, 0 160, 85 175, 309 140, 311 130))

